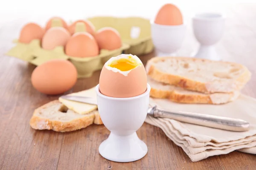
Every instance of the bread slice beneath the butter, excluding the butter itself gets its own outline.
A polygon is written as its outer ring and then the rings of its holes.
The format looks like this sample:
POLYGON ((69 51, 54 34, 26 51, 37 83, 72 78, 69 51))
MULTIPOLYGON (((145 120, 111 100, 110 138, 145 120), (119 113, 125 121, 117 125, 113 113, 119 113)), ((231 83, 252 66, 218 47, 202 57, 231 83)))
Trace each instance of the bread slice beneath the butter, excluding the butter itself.
POLYGON ((58 100, 54 100, 35 109, 30 119, 30 126, 33 129, 47 129, 57 132, 78 130, 93 123, 97 125, 103 124, 97 110, 87 114, 79 114, 68 109, 58 100))

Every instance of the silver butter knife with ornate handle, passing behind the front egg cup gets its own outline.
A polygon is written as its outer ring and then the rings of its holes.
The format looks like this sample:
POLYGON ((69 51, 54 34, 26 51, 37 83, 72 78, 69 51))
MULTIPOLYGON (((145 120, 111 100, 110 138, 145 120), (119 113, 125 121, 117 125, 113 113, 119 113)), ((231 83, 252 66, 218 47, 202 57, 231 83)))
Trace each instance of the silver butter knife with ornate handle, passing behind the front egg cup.
MULTIPOLYGON (((67 99, 75 102, 82 102, 91 105, 97 105, 97 100, 91 97, 83 96, 61 96, 62 99, 67 99)), ((148 115, 153 117, 169 118, 180 122, 186 122, 195 125, 212 127, 216 129, 244 132, 249 130, 250 124, 242 119, 234 119, 223 116, 214 116, 201 113, 190 113, 182 111, 167 111, 157 108, 157 106, 148 107, 148 115)))

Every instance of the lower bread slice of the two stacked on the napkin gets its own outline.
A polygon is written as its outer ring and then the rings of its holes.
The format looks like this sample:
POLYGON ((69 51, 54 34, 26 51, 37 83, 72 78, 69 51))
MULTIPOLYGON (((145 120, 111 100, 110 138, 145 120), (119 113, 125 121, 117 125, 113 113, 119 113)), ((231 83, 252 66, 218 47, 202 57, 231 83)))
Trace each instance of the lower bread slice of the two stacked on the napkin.
POLYGON ((148 77, 148 84, 151 86, 150 96, 159 99, 170 99, 178 103, 198 104, 224 104, 231 102, 239 96, 239 91, 231 93, 204 94, 195 91, 188 91, 174 85, 157 82, 148 77))

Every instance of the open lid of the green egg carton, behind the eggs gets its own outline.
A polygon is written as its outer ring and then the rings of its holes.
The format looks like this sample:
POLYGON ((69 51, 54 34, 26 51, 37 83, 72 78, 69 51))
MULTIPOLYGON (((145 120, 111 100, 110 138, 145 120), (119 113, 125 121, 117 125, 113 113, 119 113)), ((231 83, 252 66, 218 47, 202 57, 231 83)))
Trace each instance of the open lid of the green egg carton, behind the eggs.
POLYGON ((130 45, 125 54, 143 55, 154 49, 150 21, 140 17, 91 17, 87 18, 96 31, 103 27, 115 28, 123 43, 130 45))

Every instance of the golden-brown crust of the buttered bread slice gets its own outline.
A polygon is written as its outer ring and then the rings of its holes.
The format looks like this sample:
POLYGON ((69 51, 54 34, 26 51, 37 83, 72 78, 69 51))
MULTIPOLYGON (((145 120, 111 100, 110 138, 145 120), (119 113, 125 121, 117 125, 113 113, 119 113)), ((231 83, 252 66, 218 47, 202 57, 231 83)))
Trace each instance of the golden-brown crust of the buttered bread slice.
MULTIPOLYGON (((54 130, 57 132, 68 132, 73 130, 79 130, 81 128, 92 125, 93 123, 97 125, 103 124, 102 120, 100 119, 98 111, 93 111, 91 113, 85 114, 83 117, 72 119, 70 121, 47 119, 42 116, 36 115, 36 113, 41 112, 45 108, 49 108, 52 105, 59 105, 59 104, 61 104, 61 102, 59 102, 58 100, 54 100, 52 102, 49 102, 35 109, 33 116, 29 122, 30 126, 33 129, 37 129, 37 130, 54 130)), ((56 110, 56 112, 57 111, 58 110, 56 110)))

